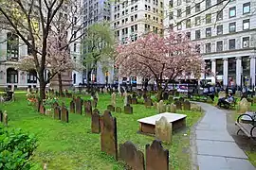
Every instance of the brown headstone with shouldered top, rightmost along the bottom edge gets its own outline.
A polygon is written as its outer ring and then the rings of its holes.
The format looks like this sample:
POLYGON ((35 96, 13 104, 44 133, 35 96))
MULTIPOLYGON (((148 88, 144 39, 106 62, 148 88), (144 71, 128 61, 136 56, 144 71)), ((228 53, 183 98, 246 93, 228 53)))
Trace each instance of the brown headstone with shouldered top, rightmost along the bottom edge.
POLYGON ((160 141, 146 145, 146 169, 169 170, 169 150, 164 149, 160 141))

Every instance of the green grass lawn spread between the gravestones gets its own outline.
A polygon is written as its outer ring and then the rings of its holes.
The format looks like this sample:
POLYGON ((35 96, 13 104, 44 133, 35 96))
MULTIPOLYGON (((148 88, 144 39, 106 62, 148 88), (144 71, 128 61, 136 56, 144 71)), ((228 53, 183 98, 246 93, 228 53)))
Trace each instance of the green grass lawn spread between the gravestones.
MULTIPOLYGON (((39 146, 33 159, 34 169, 42 169, 43 162, 47 163, 49 170, 124 169, 123 163, 101 152, 100 134, 91 133, 89 117, 70 113, 69 123, 66 124, 41 115, 32 106, 28 106, 25 93, 16 93, 15 98, 15 102, 0 104, 0 109, 8 111, 9 129, 19 127, 37 135, 39 146)), ((117 98, 117 106, 122 107, 122 99, 117 98)), ((89 99, 89 96, 82 95, 82 99, 89 99)), ((61 100, 66 106, 71 101, 67 98, 61 100)), ((101 113, 108 104, 110 95, 101 94, 98 103, 101 113)), ((144 152, 145 144, 151 144, 154 137, 137 134, 137 119, 154 115, 156 110, 145 109, 143 105, 133 107, 134 114, 112 113, 117 117, 118 144, 129 140, 144 152)), ((191 169, 190 130, 202 113, 187 110, 179 112, 188 115, 187 129, 174 133, 173 144, 164 144, 164 148, 170 150, 171 169, 187 170, 191 169)))

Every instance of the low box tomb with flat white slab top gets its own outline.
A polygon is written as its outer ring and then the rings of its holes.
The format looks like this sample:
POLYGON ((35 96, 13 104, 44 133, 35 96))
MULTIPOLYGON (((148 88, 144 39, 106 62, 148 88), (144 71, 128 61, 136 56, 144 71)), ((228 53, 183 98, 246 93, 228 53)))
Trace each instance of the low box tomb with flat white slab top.
POLYGON ((160 120, 162 116, 164 116, 168 122, 172 123, 173 130, 186 127, 187 115, 163 112, 154 116, 138 119, 137 122, 139 123, 139 132, 155 134, 155 121, 160 120))

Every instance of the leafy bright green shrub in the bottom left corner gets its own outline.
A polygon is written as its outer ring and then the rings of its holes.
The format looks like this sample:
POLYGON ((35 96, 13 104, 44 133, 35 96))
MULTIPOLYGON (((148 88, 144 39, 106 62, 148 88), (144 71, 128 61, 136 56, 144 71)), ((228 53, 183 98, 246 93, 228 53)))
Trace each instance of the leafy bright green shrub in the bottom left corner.
POLYGON ((30 169, 36 147, 37 139, 33 134, 24 133, 21 129, 9 132, 0 127, 0 169, 30 169))

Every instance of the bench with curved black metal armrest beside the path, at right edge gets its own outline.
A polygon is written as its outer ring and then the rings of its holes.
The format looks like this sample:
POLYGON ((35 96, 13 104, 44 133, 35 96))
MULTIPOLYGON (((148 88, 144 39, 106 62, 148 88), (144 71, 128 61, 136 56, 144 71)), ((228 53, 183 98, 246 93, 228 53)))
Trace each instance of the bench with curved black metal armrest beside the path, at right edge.
POLYGON ((239 130, 237 130, 237 135, 240 131, 243 131, 247 135, 247 137, 251 139, 256 138, 255 117, 253 117, 252 115, 249 115, 247 113, 241 114, 240 116, 238 116, 235 122, 235 125, 239 127, 239 130), (248 116, 251 119, 251 122, 250 123, 241 122, 240 119, 242 118, 242 116, 248 116))

